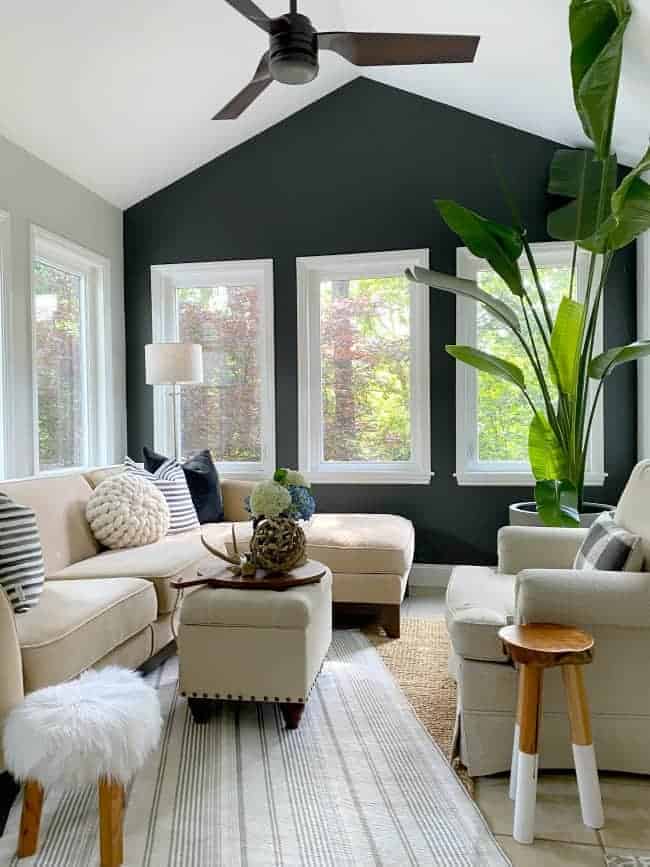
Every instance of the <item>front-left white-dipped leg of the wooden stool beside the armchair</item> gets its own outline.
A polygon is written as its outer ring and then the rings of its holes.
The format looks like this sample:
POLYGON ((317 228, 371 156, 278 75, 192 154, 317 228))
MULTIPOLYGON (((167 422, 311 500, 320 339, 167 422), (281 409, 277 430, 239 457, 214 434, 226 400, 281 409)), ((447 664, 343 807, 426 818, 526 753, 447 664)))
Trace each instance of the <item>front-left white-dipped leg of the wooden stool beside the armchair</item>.
POLYGON ((517 789, 512 836, 518 843, 532 843, 535 837, 537 801, 537 743, 542 705, 541 668, 522 665, 520 674, 521 721, 517 756, 517 789))

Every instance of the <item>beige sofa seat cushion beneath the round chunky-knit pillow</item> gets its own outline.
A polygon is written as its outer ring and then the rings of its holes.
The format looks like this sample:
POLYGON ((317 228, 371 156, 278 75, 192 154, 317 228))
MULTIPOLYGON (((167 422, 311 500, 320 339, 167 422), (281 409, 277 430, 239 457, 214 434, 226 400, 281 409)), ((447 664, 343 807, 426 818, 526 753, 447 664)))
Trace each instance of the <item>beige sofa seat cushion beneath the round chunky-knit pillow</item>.
POLYGON ((213 545, 223 548, 230 538, 231 524, 204 524, 176 536, 166 536, 152 545, 102 551, 95 557, 73 563, 49 575, 51 581, 90 578, 146 578, 154 583, 158 596, 158 613, 168 614, 176 607, 178 592, 170 580, 185 581, 196 577, 199 561, 210 555, 201 544, 201 534, 213 545))

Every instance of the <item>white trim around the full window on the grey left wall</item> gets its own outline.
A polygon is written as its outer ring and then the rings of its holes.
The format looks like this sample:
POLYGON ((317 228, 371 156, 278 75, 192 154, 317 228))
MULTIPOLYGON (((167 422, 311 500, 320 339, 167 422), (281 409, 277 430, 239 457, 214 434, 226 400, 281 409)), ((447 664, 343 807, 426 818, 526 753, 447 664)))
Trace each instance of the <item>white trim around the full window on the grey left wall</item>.
POLYGON ((32 407, 33 407, 33 465, 34 475, 60 475, 74 469, 102 465, 110 462, 114 451, 115 408, 110 387, 112 364, 107 347, 111 345, 111 311, 109 300, 110 261, 105 256, 81 247, 67 238, 62 238, 30 225, 30 293, 29 316, 31 323, 32 358, 32 407), (36 320, 34 318, 34 268, 35 259, 41 259, 54 267, 64 268, 82 277, 82 376, 84 377, 85 426, 83 461, 79 467, 64 467, 56 470, 40 469, 38 430, 38 377, 36 375, 36 320))

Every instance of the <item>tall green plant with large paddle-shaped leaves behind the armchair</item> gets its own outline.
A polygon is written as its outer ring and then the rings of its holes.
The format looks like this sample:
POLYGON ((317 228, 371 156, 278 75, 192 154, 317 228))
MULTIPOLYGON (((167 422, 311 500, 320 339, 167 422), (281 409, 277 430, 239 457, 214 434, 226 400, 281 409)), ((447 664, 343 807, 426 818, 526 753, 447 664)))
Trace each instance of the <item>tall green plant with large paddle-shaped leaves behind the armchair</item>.
POLYGON ((574 244, 567 295, 550 309, 539 270, 516 208, 514 226, 487 220, 456 202, 436 201, 446 224, 474 255, 486 259, 512 293, 504 303, 474 281, 414 268, 418 283, 464 295, 484 305, 517 338, 530 361, 542 395, 537 405, 520 367, 472 346, 447 346, 459 361, 512 383, 530 405, 529 457, 536 479, 535 498, 544 523, 574 526, 583 505, 585 465, 595 409, 603 382, 626 361, 650 354, 650 340, 594 355, 603 289, 617 250, 650 228, 650 148, 616 186, 617 160, 611 151, 623 35, 631 16, 628 0, 571 0, 573 98, 591 150, 559 150, 549 192, 569 201, 548 218, 551 237, 574 244), (590 253, 583 301, 574 297, 578 248, 590 253), (519 267, 524 257, 534 284, 533 297, 519 267), (535 297, 536 296, 536 297, 535 297), (595 380, 595 388, 590 388, 595 380))

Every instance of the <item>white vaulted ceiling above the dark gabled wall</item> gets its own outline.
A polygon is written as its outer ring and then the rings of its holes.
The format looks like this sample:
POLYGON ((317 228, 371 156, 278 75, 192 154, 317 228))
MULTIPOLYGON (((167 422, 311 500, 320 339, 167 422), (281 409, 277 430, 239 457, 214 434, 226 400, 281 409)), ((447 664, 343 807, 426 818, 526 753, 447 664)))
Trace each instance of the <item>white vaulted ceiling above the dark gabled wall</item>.
MULTIPOLYGON (((271 16, 289 0, 258 0, 271 16)), ((650 0, 633 0, 616 147, 647 145, 650 0)), ((476 62, 367 69, 386 84, 568 144, 568 0, 303 0, 320 30, 479 34, 476 62)), ((252 76, 265 34, 223 0, 0 0, 0 133, 127 207, 360 74, 322 52, 316 81, 274 83, 210 120, 252 76)))

